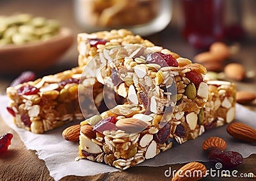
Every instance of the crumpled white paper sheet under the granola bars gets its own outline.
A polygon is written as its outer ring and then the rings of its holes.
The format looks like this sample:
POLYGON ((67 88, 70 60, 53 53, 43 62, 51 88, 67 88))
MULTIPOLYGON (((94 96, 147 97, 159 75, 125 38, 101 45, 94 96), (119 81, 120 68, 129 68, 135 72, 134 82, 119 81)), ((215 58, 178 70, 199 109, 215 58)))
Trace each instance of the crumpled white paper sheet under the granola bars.
MULTIPOLYGON (((28 149, 36 150, 39 159, 45 161, 51 177, 55 180, 60 180, 67 175, 86 176, 120 171, 120 169, 113 168, 106 164, 100 164, 86 159, 75 161, 78 155, 78 143, 65 141, 61 136, 62 130, 69 125, 64 125, 63 127, 45 132, 44 134, 33 134, 24 129, 17 128, 12 122, 12 116, 6 111, 8 101, 8 97, 0 96, 0 114, 4 122, 19 134, 20 139, 28 149)), ((237 113, 234 122, 243 122, 256 128, 256 113, 239 104, 236 106, 237 113)), ((227 125, 223 125, 222 127, 209 130, 202 136, 189 140, 182 145, 174 146, 170 150, 160 153, 153 159, 149 159, 139 165, 162 166, 191 161, 208 161, 202 150, 202 143, 211 136, 219 136, 225 139, 227 142, 227 150, 237 151, 241 153, 243 157, 248 157, 252 153, 256 153, 255 145, 252 143, 243 143, 232 138, 227 134, 226 127, 227 125)))

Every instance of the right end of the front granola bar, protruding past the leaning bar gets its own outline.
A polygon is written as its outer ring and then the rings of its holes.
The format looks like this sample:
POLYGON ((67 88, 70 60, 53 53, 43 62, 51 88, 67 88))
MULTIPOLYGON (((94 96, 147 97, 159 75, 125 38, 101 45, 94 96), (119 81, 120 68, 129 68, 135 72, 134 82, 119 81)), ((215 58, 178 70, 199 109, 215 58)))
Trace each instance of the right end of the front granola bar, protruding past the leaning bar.
POLYGON ((204 107, 204 122, 209 127, 230 123, 236 115, 236 84, 207 81, 209 96, 204 107))

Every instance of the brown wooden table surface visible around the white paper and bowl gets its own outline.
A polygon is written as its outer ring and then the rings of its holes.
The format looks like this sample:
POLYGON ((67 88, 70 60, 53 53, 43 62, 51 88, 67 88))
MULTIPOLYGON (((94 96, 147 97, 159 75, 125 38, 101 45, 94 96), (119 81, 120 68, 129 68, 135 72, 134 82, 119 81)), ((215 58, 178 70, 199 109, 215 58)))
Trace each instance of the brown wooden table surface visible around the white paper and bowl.
MULTIPOLYGON (((34 15, 42 15, 48 18, 60 20, 63 26, 71 28, 76 35, 84 30, 77 26, 74 19, 74 10, 72 8, 72 1, 55 0, 55 1, 0 1, 0 15, 12 15, 15 12, 27 12, 34 15)), ((177 2, 176 2, 177 3, 177 2)), ((176 7, 176 6, 175 6, 176 7)), ((176 10, 177 12, 177 10, 176 10)), ((196 54, 188 43, 180 36, 180 29, 178 26, 177 14, 173 12, 173 20, 170 26, 164 31, 156 35, 147 36, 145 38, 151 40, 156 45, 161 45, 174 52, 193 59, 196 54)), ((74 37, 76 40, 76 37, 74 37)), ((234 42, 230 42, 234 43, 234 42)), ((242 42, 239 42, 241 49, 233 61, 243 63, 246 70, 256 70, 256 37, 246 35, 242 42)), ((63 56, 56 65, 45 70, 38 72, 38 76, 54 74, 62 70, 67 70, 77 66, 77 51, 76 43, 70 50, 63 56)), ((5 92, 6 87, 10 84, 14 75, 0 75, 0 93, 5 92)), ((237 83, 237 90, 249 90, 256 92, 256 80, 250 80, 243 83, 237 83)), ((250 109, 255 110, 255 106, 249 106, 250 109)), ((255 119, 255 118, 252 118, 255 119)), ((19 135, 6 125, 2 118, 0 118, 0 135, 6 132, 13 134, 12 145, 8 152, 0 155, 0 180, 54 180, 49 176, 49 171, 45 166, 45 162, 38 159, 33 150, 27 150, 24 143, 19 138, 19 135)), ((256 150, 255 150, 256 151, 256 150)), ((138 166, 130 168, 126 171, 104 173, 93 175, 89 177, 76 177, 68 176, 61 180, 171 180, 169 177, 164 176, 164 171, 169 169, 179 169, 183 164, 173 164, 166 166, 159 166, 157 168, 138 166)), ((205 162, 207 168, 214 168, 210 162, 205 162)), ((256 154, 244 159, 244 163, 236 168, 239 173, 254 173, 256 175, 256 154)), ((207 177, 202 180, 229 180, 230 178, 211 178, 207 177)), ((232 178, 232 180, 248 180, 249 178, 232 178)))

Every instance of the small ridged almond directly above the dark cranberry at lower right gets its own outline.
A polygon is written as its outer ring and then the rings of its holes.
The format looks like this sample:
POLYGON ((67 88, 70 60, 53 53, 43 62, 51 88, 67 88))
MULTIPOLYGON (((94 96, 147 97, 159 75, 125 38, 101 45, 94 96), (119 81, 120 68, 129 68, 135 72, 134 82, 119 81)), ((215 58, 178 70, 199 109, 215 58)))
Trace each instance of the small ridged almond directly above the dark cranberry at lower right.
POLYGON ((214 148, 218 148, 221 151, 226 150, 227 148, 227 143, 224 139, 219 138, 219 137, 210 137, 205 139, 204 143, 202 144, 203 150, 212 150, 214 148))

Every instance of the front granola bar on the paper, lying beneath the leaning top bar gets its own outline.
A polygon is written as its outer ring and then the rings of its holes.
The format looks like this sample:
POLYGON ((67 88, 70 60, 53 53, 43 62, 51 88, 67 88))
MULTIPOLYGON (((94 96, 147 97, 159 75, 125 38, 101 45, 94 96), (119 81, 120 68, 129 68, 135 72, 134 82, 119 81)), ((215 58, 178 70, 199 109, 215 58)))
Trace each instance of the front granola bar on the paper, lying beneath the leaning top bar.
POLYGON ((164 114, 147 114, 140 105, 118 105, 80 123, 79 157, 119 169, 140 164, 213 127, 232 122, 235 93, 233 83, 209 81, 208 102, 197 112, 195 122, 185 119, 189 113, 180 120, 173 116, 164 120, 164 114))

